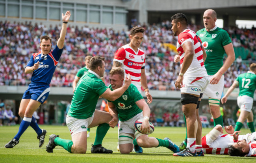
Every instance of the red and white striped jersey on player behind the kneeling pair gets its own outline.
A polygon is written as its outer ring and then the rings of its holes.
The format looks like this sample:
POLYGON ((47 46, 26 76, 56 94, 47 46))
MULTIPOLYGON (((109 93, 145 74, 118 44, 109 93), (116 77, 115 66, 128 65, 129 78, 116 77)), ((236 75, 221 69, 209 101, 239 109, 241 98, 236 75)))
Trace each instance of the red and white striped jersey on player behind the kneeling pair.
MULTIPOLYGON (((138 48, 138 51, 136 52, 128 44, 126 44, 115 52, 113 61, 121 62, 121 68, 125 70, 126 75, 130 73, 132 82, 140 83, 141 67, 145 66, 144 51, 138 48)), ((140 89, 138 88, 138 90, 140 89)))

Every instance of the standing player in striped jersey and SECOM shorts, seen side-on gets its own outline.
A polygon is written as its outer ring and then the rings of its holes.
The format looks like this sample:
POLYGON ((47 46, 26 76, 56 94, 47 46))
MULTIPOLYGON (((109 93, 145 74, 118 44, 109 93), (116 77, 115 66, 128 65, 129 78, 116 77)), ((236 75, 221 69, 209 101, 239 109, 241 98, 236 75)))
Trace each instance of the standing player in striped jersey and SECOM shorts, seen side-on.
POLYGON ((174 36, 178 36, 177 51, 180 73, 175 82, 180 88, 182 111, 187 121, 187 148, 173 156, 204 156, 202 150, 202 123, 198 109, 209 78, 204 68, 206 52, 194 31, 187 28, 187 17, 178 13, 171 17, 174 36))

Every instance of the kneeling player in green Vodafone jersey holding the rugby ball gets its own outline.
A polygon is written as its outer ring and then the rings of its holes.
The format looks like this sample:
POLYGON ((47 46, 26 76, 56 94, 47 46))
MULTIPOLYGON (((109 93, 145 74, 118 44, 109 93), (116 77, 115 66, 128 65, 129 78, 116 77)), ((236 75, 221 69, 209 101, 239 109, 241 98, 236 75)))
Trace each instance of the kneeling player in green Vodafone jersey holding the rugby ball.
MULTIPOLYGON (((113 68, 109 72, 109 82, 111 90, 115 91, 121 88, 124 84, 124 70, 122 68, 113 68)), ((167 137, 165 139, 158 139, 145 135, 150 130, 148 121, 150 108, 133 84, 118 99, 114 101, 108 100, 108 107, 113 117, 111 122, 109 122, 109 126, 115 127, 119 119, 118 144, 122 154, 132 152, 134 145, 144 148, 166 147, 174 153, 180 152, 179 147, 167 137), (141 132, 144 134, 138 132, 134 127, 134 123, 138 119, 143 119, 141 132)))

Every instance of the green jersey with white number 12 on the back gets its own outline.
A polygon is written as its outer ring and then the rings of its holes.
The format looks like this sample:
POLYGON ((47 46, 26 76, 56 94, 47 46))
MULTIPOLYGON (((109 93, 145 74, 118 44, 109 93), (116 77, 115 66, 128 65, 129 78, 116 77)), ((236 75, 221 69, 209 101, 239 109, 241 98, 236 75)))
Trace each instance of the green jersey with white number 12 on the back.
POLYGON ((239 82, 239 96, 247 95, 253 98, 256 89, 256 75, 252 71, 240 74, 236 81, 239 82))

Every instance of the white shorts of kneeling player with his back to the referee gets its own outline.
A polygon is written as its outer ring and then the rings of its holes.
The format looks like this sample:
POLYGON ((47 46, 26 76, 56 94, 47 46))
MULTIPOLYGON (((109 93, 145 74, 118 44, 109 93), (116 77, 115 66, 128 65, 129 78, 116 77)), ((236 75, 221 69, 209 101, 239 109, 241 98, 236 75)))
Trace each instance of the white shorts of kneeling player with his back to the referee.
POLYGON ((87 132, 87 128, 93 121, 93 117, 94 117, 94 113, 93 113, 93 116, 87 119, 77 119, 67 115, 66 122, 67 122, 67 126, 69 128, 71 136, 79 132, 87 132))

